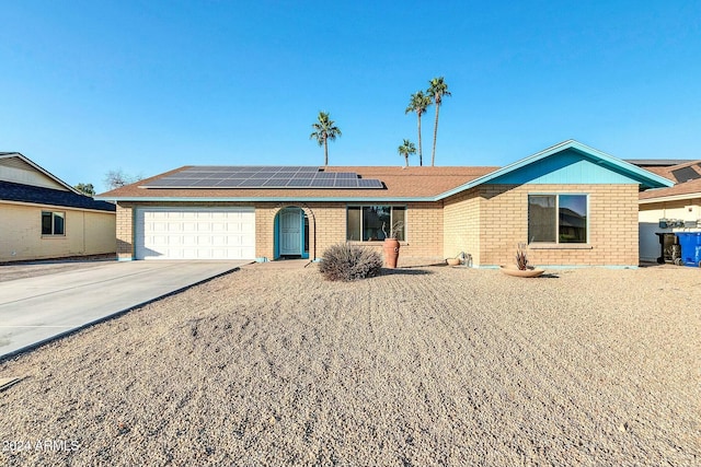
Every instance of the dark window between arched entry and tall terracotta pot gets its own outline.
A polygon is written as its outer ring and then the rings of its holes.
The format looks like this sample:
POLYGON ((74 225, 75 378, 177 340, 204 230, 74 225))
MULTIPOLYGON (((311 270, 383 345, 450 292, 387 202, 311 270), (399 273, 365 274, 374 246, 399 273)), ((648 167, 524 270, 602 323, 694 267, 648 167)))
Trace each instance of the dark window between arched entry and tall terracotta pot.
POLYGON ((403 206, 349 206, 346 238, 355 242, 379 242, 390 236, 394 226, 398 240, 403 241, 405 221, 406 208, 403 206))

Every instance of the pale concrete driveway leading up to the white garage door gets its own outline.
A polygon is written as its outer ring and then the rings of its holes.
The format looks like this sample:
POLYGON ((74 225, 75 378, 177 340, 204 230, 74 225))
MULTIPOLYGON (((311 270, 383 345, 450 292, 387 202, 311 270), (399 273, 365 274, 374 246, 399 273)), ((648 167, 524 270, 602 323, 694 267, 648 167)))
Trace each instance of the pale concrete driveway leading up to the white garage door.
POLYGON ((0 359, 246 262, 110 261, 0 282, 0 359))

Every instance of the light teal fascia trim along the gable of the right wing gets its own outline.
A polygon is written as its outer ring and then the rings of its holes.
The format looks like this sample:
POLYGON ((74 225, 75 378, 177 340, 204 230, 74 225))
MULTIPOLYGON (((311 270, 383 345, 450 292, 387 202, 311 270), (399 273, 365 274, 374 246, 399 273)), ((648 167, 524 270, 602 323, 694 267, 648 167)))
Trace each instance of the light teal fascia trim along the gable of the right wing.
POLYGON ((505 165, 502 168, 497 168, 494 172, 490 172, 486 175, 483 175, 481 177, 478 177, 473 180, 468 182, 464 185, 460 185, 459 187, 452 188, 444 194, 438 195, 437 199, 444 199, 444 198, 448 198, 449 196, 452 195, 457 195, 460 191, 464 191, 467 189, 473 188, 478 185, 482 185, 484 183, 487 183, 490 180, 493 180, 494 178, 501 177, 502 175, 506 175, 508 173, 512 173, 514 171, 517 171, 521 167, 525 167, 526 165, 532 164, 533 162, 538 162, 542 159, 545 159, 552 154, 555 154, 558 152, 564 151, 565 149, 575 149, 577 151, 584 152, 586 154, 593 155, 597 159, 600 159, 601 161, 613 165, 616 167, 620 167, 623 168, 625 171, 632 172, 633 174, 637 175, 640 178, 643 179, 647 179, 650 182, 653 182, 654 184, 658 184, 662 187, 671 187, 674 186, 674 183, 663 176, 659 176, 657 174, 653 174, 650 171, 645 171, 644 168, 641 168, 634 164, 631 164, 629 162, 625 162, 621 159, 614 157, 612 155, 609 155, 605 152, 601 152, 597 149, 590 148, 586 144, 583 144, 578 141, 575 140, 566 140, 563 141, 561 143, 558 143, 555 145, 552 145, 550 148, 547 148, 540 152, 537 152, 536 154, 529 155, 527 157, 524 157, 519 161, 516 161, 512 164, 505 165))

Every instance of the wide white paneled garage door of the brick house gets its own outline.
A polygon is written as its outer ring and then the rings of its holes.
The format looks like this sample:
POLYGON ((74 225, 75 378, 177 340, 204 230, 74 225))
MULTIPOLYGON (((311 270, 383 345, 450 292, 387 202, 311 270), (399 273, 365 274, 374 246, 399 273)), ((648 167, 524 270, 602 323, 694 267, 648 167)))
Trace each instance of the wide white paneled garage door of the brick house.
POLYGON ((137 259, 254 259, 253 208, 140 208, 137 259))

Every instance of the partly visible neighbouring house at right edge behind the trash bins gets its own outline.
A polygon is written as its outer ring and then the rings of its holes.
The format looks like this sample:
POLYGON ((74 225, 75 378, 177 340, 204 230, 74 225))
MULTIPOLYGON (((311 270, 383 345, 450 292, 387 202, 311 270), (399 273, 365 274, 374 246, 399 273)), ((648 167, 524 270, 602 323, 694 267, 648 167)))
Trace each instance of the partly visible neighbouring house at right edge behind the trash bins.
POLYGON ((634 163, 675 183, 673 187, 642 191, 639 197, 640 258, 669 261, 674 233, 701 232, 701 161, 634 163), (664 254, 660 238, 665 242, 664 254))

